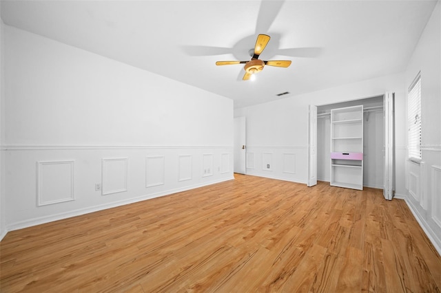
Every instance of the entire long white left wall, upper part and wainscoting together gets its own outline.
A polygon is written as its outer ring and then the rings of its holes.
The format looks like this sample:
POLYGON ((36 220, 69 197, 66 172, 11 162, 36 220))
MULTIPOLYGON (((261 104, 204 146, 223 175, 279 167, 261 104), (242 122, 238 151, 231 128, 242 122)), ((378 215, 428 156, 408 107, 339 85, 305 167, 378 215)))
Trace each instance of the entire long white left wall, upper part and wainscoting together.
POLYGON ((232 100, 4 27, 8 230, 232 179, 232 100))

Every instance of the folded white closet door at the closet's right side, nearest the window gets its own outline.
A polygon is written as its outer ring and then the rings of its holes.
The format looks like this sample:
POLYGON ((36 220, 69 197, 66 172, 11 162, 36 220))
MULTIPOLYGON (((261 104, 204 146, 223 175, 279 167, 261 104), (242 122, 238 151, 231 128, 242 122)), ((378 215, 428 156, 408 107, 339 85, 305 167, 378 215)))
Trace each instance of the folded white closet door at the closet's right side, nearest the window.
POLYGON ((393 93, 387 91, 383 99, 384 119, 384 199, 393 197, 393 93))

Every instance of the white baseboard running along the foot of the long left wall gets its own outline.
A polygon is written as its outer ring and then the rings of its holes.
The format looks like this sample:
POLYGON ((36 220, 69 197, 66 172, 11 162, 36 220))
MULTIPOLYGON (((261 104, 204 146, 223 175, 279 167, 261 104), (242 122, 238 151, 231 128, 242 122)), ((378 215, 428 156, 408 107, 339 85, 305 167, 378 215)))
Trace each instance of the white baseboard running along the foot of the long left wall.
POLYGON ((127 200, 122 200, 122 201, 118 201, 118 202, 112 202, 110 204, 103 204, 103 205, 99 205, 99 206, 92 206, 90 208, 81 208, 78 210, 72 210, 68 213, 59 213, 59 214, 54 214, 54 215, 48 215, 48 216, 44 216, 44 217, 37 217, 34 219, 27 219, 25 221, 19 221, 17 223, 13 223, 7 226, 7 230, 2 233, 1 239, 3 239, 3 237, 7 234, 7 232, 9 231, 14 231, 14 230, 19 230, 19 229, 23 229, 23 228, 28 228, 28 227, 32 227, 32 226, 37 226, 37 225, 41 225, 41 224, 46 224, 46 223, 50 223, 52 221, 59 221, 61 219, 68 219, 70 217, 76 217, 79 215, 85 215, 88 213, 94 213, 97 212, 99 210, 105 210, 107 208, 116 208, 117 206, 124 206, 125 204, 133 204, 135 202, 142 202, 143 200, 147 200, 147 199, 153 199, 156 197, 162 197, 165 195, 172 195, 173 193, 180 193, 183 191, 189 191, 191 189, 194 188, 199 188, 199 187, 203 187, 203 186, 209 186, 212 184, 216 184, 216 183, 220 183, 220 182, 225 182, 228 180, 234 180, 234 177, 227 177, 227 178, 223 178, 221 180, 214 180, 211 182, 205 182, 203 184, 194 184, 192 186, 185 186, 183 188, 175 188, 175 189, 170 189, 167 191, 161 191, 160 193, 152 193, 149 195, 142 195, 139 197, 133 197, 131 199, 127 199, 127 200), (3 235, 4 234, 4 235, 3 235))

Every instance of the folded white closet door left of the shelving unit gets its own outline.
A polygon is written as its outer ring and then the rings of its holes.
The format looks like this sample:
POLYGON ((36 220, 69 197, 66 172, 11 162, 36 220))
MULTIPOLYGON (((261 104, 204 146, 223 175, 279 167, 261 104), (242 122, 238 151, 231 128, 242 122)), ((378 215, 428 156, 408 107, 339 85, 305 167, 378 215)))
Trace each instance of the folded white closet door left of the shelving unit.
POLYGON ((309 105, 308 186, 317 185, 317 106, 309 105))

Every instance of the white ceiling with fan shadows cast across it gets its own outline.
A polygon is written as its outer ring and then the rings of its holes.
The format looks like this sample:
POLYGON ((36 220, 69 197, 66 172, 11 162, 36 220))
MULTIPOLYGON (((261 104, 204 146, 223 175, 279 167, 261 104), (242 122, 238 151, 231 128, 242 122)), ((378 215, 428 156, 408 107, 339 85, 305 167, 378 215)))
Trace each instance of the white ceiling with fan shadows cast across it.
POLYGON ((232 98, 234 107, 402 72, 436 1, 1 1, 4 23, 232 98), (266 66, 243 81, 258 34, 266 66))

